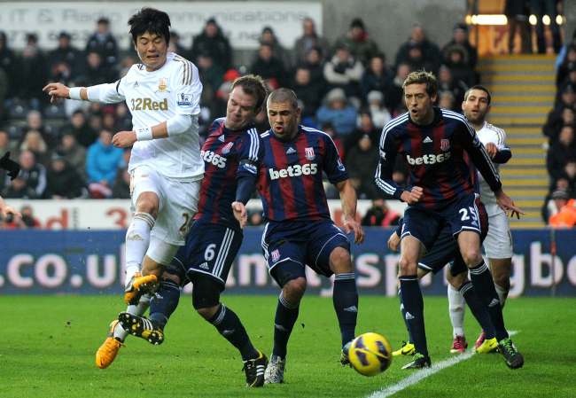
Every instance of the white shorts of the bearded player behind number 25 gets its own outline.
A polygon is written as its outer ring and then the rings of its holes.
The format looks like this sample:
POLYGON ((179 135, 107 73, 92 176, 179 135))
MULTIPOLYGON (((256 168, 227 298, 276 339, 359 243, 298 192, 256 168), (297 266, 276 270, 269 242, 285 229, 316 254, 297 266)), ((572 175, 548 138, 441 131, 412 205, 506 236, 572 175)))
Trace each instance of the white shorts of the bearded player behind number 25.
POLYGON ((486 205, 488 212, 488 235, 484 239, 484 251, 489 259, 508 259, 513 255, 512 235, 508 217, 498 205, 486 205))

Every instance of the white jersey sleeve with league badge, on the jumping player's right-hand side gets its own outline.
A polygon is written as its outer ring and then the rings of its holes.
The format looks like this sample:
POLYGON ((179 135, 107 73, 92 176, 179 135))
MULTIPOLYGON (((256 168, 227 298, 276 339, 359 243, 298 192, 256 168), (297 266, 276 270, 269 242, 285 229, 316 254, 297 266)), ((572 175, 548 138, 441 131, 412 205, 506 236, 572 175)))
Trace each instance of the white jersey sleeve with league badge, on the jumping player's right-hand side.
POLYGON ((175 79, 176 114, 198 116, 200 113, 200 96, 202 83, 198 76, 198 68, 187 59, 179 59, 180 65, 176 68, 175 79))

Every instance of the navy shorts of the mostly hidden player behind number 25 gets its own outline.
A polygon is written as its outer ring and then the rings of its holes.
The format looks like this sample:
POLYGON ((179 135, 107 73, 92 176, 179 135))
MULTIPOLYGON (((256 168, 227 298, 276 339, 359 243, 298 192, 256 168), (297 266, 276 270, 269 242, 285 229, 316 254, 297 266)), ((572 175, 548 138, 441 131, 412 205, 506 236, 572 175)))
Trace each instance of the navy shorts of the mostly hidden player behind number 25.
MULTIPOLYGON (((486 213, 486 207, 484 207, 484 204, 478 199, 476 200, 476 205, 480 220, 480 242, 483 242, 488 232, 488 214, 486 213)), ((462 254, 460 254, 460 247, 455 239, 455 235, 452 233, 452 227, 447 222, 444 224, 442 230, 440 230, 440 234, 438 238, 436 238, 432 249, 430 249, 418 263, 418 268, 432 271, 432 273, 436 274, 440 269, 443 269, 448 262, 450 263, 450 274, 454 277, 468 270, 463 261, 462 254)))

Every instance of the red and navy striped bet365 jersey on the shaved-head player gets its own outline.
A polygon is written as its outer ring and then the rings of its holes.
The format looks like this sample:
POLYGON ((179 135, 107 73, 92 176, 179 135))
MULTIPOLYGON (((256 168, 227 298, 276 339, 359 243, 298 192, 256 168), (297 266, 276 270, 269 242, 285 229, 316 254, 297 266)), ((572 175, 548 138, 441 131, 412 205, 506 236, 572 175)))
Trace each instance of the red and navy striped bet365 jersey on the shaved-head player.
POLYGON ((298 127, 283 141, 270 129, 262 134, 264 159, 258 176, 258 192, 269 221, 330 219, 323 173, 330 183, 348 179, 332 138, 317 129, 298 127))

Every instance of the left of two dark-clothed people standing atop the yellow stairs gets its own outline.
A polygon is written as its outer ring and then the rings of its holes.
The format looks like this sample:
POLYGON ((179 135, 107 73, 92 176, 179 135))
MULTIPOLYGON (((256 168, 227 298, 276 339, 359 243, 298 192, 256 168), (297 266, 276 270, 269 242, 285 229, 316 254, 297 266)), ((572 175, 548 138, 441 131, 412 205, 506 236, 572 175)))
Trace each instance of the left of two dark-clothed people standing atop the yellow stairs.
POLYGON ((506 0, 504 15, 508 20, 508 52, 513 54, 517 29, 520 29, 520 53, 532 54, 532 25, 530 25, 531 0, 506 0))

